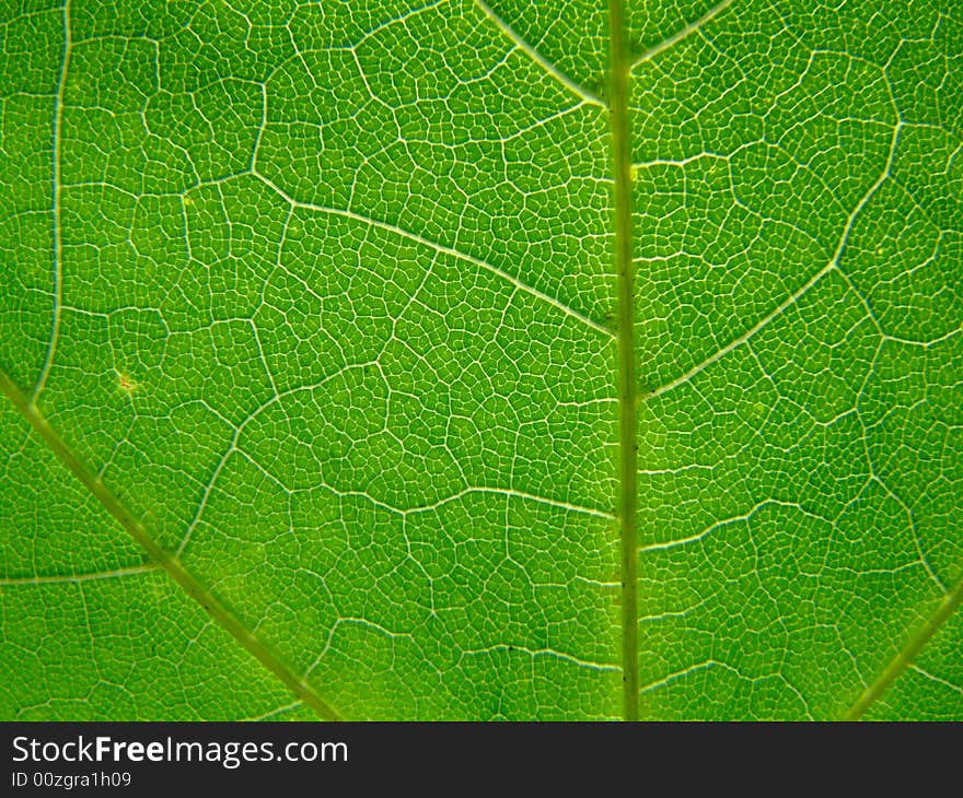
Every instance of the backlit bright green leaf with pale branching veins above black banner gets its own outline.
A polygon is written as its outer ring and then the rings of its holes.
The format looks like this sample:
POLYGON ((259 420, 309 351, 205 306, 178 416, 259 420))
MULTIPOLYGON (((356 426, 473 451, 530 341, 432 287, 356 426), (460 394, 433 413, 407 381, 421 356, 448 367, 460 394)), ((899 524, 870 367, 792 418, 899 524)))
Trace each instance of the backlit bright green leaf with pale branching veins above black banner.
POLYGON ((963 719, 952 0, 0 1, 0 718, 963 719))

